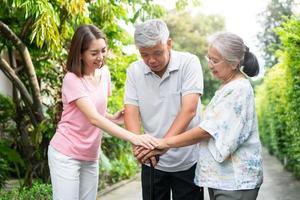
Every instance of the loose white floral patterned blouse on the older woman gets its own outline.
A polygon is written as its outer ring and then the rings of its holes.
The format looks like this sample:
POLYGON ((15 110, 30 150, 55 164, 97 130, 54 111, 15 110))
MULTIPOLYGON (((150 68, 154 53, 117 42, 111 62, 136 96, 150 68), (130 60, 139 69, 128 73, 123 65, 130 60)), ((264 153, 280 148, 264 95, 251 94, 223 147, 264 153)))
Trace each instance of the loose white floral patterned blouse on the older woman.
POLYGON ((197 185, 221 190, 260 187, 262 149, 254 92, 247 79, 231 81, 216 91, 199 127, 212 138, 199 143, 197 185))

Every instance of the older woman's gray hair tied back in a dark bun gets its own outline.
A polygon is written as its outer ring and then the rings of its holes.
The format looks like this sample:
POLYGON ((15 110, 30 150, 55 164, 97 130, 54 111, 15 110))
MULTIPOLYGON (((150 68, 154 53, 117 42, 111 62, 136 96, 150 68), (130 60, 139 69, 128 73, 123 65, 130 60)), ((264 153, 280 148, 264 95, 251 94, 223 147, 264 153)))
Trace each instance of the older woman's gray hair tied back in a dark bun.
POLYGON ((237 65, 247 76, 253 77, 259 73, 256 56, 238 35, 229 32, 216 33, 209 40, 209 46, 215 48, 226 62, 237 65))

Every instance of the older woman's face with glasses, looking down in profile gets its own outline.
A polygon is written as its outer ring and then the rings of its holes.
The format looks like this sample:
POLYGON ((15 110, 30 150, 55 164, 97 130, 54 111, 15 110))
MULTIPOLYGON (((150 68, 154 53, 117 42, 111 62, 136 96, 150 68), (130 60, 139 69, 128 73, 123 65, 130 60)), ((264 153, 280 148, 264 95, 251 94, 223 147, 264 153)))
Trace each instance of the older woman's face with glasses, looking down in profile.
POLYGON ((221 54, 214 48, 208 48, 208 67, 213 73, 213 75, 225 82, 229 77, 236 71, 236 66, 226 62, 226 60, 221 56, 221 54))

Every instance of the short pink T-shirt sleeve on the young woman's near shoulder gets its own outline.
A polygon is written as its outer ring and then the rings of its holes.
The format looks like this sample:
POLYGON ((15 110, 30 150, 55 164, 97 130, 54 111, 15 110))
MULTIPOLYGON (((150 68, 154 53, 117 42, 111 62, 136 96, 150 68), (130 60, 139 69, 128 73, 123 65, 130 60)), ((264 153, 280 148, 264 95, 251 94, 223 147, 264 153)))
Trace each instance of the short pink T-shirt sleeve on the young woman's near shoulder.
POLYGON ((88 96, 81 79, 71 72, 68 72, 64 77, 62 95, 67 103, 88 96))

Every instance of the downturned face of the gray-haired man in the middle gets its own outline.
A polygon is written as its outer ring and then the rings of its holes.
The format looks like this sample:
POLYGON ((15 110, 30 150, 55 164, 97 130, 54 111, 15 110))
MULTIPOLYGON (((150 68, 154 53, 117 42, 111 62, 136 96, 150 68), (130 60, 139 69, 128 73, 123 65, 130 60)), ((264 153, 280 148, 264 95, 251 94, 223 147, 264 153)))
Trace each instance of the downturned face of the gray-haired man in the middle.
POLYGON ((139 48, 145 64, 158 75, 162 75, 169 63, 172 41, 169 39, 167 44, 157 44, 153 47, 139 48))

